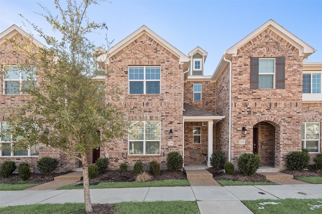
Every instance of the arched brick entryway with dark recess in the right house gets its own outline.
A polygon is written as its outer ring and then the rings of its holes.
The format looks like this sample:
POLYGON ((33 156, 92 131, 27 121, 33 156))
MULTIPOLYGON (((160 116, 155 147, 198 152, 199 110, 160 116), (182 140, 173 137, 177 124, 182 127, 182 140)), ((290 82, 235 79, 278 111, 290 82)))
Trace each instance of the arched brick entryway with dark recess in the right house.
POLYGON ((261 157, 262 166, 275 165, 276 128, 269 122, 259 122, 253 126, 253 152, 261 157))

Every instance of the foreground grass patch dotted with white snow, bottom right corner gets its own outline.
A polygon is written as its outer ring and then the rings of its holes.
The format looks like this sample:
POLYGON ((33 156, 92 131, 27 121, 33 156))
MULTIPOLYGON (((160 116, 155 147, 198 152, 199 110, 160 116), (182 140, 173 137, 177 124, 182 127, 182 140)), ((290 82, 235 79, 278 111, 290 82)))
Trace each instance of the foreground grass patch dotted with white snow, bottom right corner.
POLYGON ((243 202, 255 214, 258 214, 258 213, 259 214, 322 213, 322 198, 319 198, 319 199, 287 198, 287 199, 276 199, 276 200, 260 199, 260 200, 244 200, 241 202, 243 202))

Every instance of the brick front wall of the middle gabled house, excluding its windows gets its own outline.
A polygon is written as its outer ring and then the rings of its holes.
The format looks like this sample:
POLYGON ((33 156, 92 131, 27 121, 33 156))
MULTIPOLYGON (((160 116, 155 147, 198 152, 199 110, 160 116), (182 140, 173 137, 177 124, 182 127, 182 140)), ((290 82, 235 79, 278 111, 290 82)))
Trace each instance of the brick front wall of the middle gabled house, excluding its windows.
MULTIPOLYGON (((148 35, 143 34, 118 53, 110 56, 106 79, 107 91, 119 87, 120 100, 114 103, 127 111, 128 120, 161 121, 161 154, 128 155, 127 136, 114 139, 101 147, 101 156, 110 158, 110 167, 118 168, 122 162, 129 167, 136 161, 142 161, 147 167, 151 160, 157 160, 166 166, 167 154, 171 151, 182 153, 183 142, 183 69, 179 58, 158 44, 148 35), (128 95, 128 66, 160 66, 161 89, 159 95, 128 95), (169 137, 172 129, 173 137, 169 137), (169 145, 173 141, 173 145, 169 145)), ((111 102, 107 98, 107 102, 111 102)))

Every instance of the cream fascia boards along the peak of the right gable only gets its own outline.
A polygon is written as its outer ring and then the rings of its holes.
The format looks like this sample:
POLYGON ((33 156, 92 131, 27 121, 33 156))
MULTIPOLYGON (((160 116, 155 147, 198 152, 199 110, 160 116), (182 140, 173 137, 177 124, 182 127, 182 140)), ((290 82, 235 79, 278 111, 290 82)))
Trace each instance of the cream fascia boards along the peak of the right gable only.
POLYGON ((227 50, 228 54, 236 55, 237 50, 241 47, 244 46, 246 43, 251 41, 253 38, 255 38, 258 34, 263 32, 265 29, 271 29, 278 35, 280 35, 283 39, 291 43, 293 46, 295 46, 297 49, 299 49, 299 55, 304 56, 305 58, 314 53, 316 50, 313 49, 311 46, 294 36, 292 33, 287 31, 285 28, 274 22, 273 20, 267 21, 264 25, 253 31, 251 34, 246 36, 244 39, 240 40, 237 42, 235 45, 230 47, 227 50))

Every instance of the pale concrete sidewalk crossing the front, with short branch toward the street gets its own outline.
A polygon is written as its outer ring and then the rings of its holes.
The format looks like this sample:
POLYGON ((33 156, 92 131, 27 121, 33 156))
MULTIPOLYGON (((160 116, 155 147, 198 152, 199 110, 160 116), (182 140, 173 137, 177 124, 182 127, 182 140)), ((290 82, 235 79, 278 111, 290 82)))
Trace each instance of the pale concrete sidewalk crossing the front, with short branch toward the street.
MULTIPOLYGON (((322 184, 91 189, 92 203, 197 200, 201 213, 252 213, 240 200, 322 198, 322 184)), ((84 202, 83 189, 0 191, 0 206, 84 202)))

